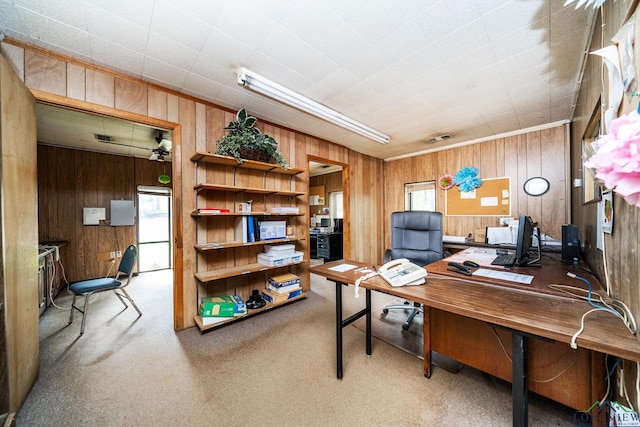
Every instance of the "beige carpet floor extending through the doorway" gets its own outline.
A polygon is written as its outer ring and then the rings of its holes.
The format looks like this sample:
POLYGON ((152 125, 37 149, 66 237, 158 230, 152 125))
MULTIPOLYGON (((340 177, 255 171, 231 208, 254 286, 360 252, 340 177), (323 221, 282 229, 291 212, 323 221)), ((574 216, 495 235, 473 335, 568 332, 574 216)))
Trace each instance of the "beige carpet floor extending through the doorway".
MULTIPOLYGON (((170 275, 136 277, 143 312, 111 294, 80 318, 50 308, 40 319, 40 376, 18 426, 509 426, 511 392, 472 369, 422 375, 422 361, 344 330, 344 378, 335 376, 331 283, 308 298, 207 334, 175 332, 170 275)), ((376 296, 374 306, 384 301, 376 296)), ((363 301, 345 292, 345 306, 363 301)), ((57 299, 63 308, 70 297, 57 299)), ((195 302, 194 302, 195 303, 195 302)), ((531 399, 529 424, 573 425, 573 411, 531 399)))

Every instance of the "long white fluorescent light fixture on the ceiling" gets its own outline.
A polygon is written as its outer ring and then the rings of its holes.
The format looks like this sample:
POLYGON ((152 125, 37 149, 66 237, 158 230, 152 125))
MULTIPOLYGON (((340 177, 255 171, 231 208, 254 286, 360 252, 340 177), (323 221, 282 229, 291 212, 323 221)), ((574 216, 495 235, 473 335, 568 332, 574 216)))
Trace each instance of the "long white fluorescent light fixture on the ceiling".
POLYGON ((305 113, 312 114, 330 123, 342 126, 352 132, 359 133, 381 144, 388 144, 391 138, 367 125, 363 125, 331 108, 306 98, 286 87, 280 86, 246 68, 238 70, 238 84, 242 87, 280 101, 305 113))

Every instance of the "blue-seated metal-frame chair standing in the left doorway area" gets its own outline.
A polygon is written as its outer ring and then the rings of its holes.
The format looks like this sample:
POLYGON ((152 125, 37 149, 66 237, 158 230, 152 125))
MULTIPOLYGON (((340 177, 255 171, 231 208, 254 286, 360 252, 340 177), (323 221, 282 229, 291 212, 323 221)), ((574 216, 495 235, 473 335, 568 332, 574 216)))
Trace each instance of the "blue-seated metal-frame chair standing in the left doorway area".
POLYGON ((82 280, 69 285, 69 290, 73 293, 73 301, 71 302, 71 314, 69 315, 69 324, 73 322, 73 312, 78 310, 82 313, 82 325, 80 326, 80 335, 84 333, 84 323, 87 318, 87 310, 89 309, 89 299, 91 295, 104 292, 113 291, 116 294, 120 302, 124 304, 125 310, 129 307, 124 301, 124 298, 128 299, 133 308, 138 312, 138 317, 142 316, 142 312, 138 306, 133 302, 127 291, 124 289, 133 276, 133 265, 136 262, 137 251, 134 245, 131 245, 124 251, 118 271, 115 277, 104 277, 100 279, 82 280), (126 281, 122 281, 120 277, 126 277, 126 281), (76 305, 76 298, 78 295, 84 296, 84 309, 81 309, 76 305))

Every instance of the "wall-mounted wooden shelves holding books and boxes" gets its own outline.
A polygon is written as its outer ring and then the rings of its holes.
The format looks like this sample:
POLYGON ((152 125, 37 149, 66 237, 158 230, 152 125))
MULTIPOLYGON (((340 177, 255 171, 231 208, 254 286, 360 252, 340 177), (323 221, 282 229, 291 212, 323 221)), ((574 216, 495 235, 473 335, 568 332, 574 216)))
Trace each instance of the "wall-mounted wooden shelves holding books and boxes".
MULTIPOLYGON (((199 243, 196 241, 194 243, 194 250, 196 251, 196 273, 194 275, 196 280, 196 304, 199 303, 200 296, 205 295, 225 295, 229 293, 236 293, 243 297, 243 299, 247 299, 248 294, 251 290, 255 290, 259 284, 264 288, 264 281, 266 280, 266 274, 270 271, 276 270, 284 270, 291 269, 291 267, 300 266, 300 265, 308 265, 308 260, 303 260, 298 263, 290 263, 286 265, 278 265, 278 266, 268 266, 260 263, 256 263, 255 257, 259 248, 264 245, 272 245, 272 244, 283 244, 283 243, 294 243, 300 240, 304 240, 299 237, 287 237, 281 239, 270 239, 270 240, 262 240, 257 242, 239 242, 235 240, 228 240, 232 233, 230 224, 234 218, 242 217, 242 216, 251 216, 251 217, 262 217, 265 219, 276 219, 278 217, 283 219, 295 220, 296 218, 304 218, 305 213, 279 213, 279 212, 271 212, 271 208, 275 206, 269 202, 269 200, 280 200, 280 199, 289 199, 289 203, 295 203, 293 199, 296 197, 306 195, 306 192, 296 191, 293 189, 295 185, 294 177, 300 173, 303 173, 303 169, 296 168, 282 168, 278 165, 271 163, 263 163, 256 162, 252 160, 245 160, 242 162, 238 162, 234 157, 229 156, 220 156, 217 154, 211 153, 203 153, 197 152, 193 156, 191 156, 191 161, 196 162, 196 173, 195 173, 195 181, 194 191, 196 193, 196 206, 195 210, 191 212, 192 218, 196 221, 196 236, 199 235, 198 227, 205 227, 205 229, 210 230, 208 227, 213 227, 217 230, 217 232, 222 235, 227 235, 227 239, 223 239, 226 241, 222 242, 202 242, 199 243), (215 173, 209 174, 207 168, 207 172, 200 173, 200 176, 205 176, 205 178, 211 179, 214 182, 201 182, 198 179, 198 164, 205 163, 208 165, 214 165, 215 173), (256 182, 256 177, 262 174, 262 179, 256 182), (229 176, 231 174, 232 176, 229 176), (256 185, 228 185, 228 182, 237 182, 237 178, 239 174, 243 174, 242 178, 249 180, 250 184, 256 184, 261 182, 263 184, 262 187, 258 187, 256 185), (284 178, 277 182, 277 187, 281 187, 281 189, 269 188, 268 182, 273 182, 273 179, 267 180, 269 174, 276 174, 279 176, 288 176, 288 189, 283 189, 287 187, 287 183, 284 178), (245 176, 246 175, 246 176, 245 176), (218 184, 216 181, 220 181, 224 178, 227 183, 218 184), (253 178, 253 180, 252 180, 253 178), (229 212, 207 212, 203 209, 200 211, 198 209, 198 203, 201 198, 207 198, 207 194, 217 194, 218 203, 221 200, 225 200, 224 206, 218 206, 220 209, 228 209, 229 212), (222 197, 221 195, 228 194, 228 196, 222 197), (240 197, 242 194, 254 194, 262 196, 262 206, 264 208, 262 211, 257 212, 237 212, 237 200, 236 197, 240 197), (272 197, 276 197, 273 199, 272 197), (268 207, 269 205, 269 207, 268 207), (203 221, 202 225, 198 225, 200 221, 203 221), (226 230, 226 231, 225 231, 226 230), (240 251, 240 252, 238 252, 240 251), (213 258, 211 258, 213 257, 213 258), (253 257, 253 261, 251 258, 253 257), (215 268, 215 265, 228 265, 229 260, 232 259, 234 261, 234 265, 232 267, 222 267, 215 268), (200 266, 200 264, 208 264, 210 265, 210 269, 204 268, 200 266), (218 291, 219 290, 219 291, 218 291)), ((205 179, 205 181, 208 181, 205 179)), ((240 181, 240 180, 238 180, 240 181)), ((242 200, 242 199, 240 199, 242 200)), ((208 232, 207 232, 208 233, 208 232)), ((205 234, 207 234, 205 233, 205 234)), ((201 236, 202 237, 202 236, 201 236)), ((211 330, 223 325, 227 325, 229 323, 245 319, 249 316, 253 316, 256 314, 260 314, 268 309, 279 307, 282 305, 286 305, 293 301, 298 301, 306 297, 306 293, 303 292, 301 295, 293 297, 291 299, 282 301, 280 303, 271 304, 268 303, 259 309, 247 310, 247 315, 243 317, 229 317, 229 318, 219 318, 219 319, 211 319, 205 318, 203 319, 201 316, 196 316, 194 318, 196 325, 200 328, 201 331, 211 330)))

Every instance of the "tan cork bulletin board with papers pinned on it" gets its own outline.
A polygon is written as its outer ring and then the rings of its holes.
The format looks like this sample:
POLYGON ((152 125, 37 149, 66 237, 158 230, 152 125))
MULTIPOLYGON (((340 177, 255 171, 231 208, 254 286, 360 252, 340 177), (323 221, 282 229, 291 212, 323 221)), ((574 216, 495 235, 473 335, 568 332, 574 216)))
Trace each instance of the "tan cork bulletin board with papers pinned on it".
POLYGON ((473 191, 445 191, 447 216, 511 216, 511 178, 486 178, 473 191))

